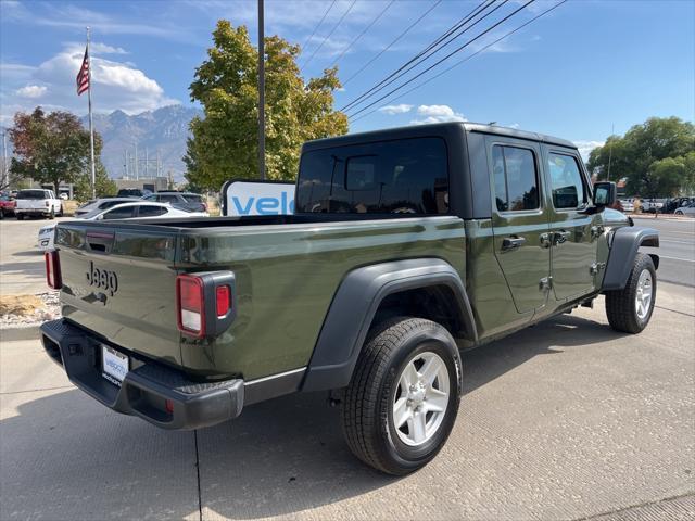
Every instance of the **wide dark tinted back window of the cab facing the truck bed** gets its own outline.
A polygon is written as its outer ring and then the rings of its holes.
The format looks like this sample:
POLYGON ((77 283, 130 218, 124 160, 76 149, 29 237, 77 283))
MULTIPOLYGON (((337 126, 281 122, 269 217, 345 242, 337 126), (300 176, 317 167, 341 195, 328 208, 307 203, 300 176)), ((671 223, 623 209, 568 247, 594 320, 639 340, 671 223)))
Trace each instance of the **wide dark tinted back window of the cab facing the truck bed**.
POLYGON ((446 214, 446 143, 413 138, 306 152, 296 211, 446 214))

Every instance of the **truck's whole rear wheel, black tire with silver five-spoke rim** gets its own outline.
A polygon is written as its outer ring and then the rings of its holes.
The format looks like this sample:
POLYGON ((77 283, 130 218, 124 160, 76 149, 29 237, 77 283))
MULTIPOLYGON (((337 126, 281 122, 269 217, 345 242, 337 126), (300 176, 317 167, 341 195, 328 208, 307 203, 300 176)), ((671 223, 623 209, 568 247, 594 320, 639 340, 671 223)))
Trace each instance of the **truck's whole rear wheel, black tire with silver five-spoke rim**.
POLYGON ((350 449, 393 475, 414 472, 446 442, 458 414, 460 358, 439 323, 396 318, 371 332, 342 404, 350 449))

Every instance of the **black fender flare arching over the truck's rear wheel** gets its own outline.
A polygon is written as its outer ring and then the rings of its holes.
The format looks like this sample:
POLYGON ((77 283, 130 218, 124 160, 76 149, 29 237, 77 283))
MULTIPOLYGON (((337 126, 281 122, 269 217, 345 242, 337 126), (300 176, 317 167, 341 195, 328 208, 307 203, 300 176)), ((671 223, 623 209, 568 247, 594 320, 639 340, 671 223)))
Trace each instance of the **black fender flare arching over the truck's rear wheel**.
POLYGON ((466 289, 451 264, 440 258, 414 258, 364 266, 350 271, 333 296, 302 391, 346 386, 381 301, 393 293, 433 285, 452 290, 467 340, 477 341, 466 289))

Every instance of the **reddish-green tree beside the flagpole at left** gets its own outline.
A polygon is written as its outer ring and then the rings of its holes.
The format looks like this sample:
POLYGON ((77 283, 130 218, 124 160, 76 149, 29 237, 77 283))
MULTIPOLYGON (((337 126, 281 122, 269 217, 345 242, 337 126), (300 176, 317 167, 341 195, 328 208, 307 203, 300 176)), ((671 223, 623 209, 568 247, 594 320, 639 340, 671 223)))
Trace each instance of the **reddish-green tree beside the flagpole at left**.
MULTIPOLYGON (((37 106, 31 114, 18 112, 9 130, 14 145, 10 171, 41 183, 75 182, 89 168, 89 131, 76 115, 55 111, 46 114, 37 106)), ((101 152, 101 137, 94 134, 94 154, 101 152)))

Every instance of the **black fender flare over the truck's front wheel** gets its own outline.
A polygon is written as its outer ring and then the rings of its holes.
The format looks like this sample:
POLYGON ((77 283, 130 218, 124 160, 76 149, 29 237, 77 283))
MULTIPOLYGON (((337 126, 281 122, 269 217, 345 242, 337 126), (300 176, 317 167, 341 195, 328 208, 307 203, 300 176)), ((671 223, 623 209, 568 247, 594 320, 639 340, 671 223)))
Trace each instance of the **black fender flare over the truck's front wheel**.
MULTIPOLYGON (((659 232, 654 228, 630 226, 618 228, 609 242, 610 253, 606 264, 602 291, 622 290, 628 283, 630 270, 640 246, 659 246, 659 232)), ((659 267, 658 255, 650 255, 654 266, 659 267)))

